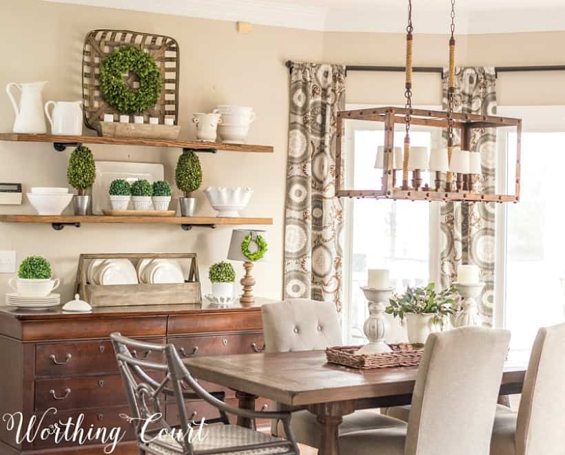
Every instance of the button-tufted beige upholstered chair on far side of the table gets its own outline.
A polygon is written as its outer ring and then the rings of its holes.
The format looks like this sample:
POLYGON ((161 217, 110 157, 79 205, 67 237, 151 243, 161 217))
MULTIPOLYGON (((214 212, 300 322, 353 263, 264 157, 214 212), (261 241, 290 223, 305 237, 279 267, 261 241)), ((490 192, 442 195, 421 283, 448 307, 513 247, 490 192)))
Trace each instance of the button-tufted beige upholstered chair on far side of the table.
MULTIPOLYGON (((261 307, 265 352, 320 350, 342 344, 336 305, 329 301, 288 299, 261 307)), ((276 409, 280 405, 275 403, 276 409)), ((340 434, 377 428, 387 423, 377 410, 361 410, 344 416, 340 434)), ((307 410, 292 413, 291 429, 299 443, 318 447, 321 426, 307 410)), ((274 436, 285 436, 281 423, 272 425, 274 436)))

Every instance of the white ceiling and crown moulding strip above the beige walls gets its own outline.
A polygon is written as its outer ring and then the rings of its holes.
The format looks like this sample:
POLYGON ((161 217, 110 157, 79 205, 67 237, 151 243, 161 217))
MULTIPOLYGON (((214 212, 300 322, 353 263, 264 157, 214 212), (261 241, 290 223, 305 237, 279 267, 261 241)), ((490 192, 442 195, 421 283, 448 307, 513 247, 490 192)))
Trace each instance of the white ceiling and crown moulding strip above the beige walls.
MULTIPOLYGON (((44 0, 306 30, 404 32, 407 0, 44 0)), ((456 0, 456 30, 565 30, 564 0, 456 0)), ((415 32, 446 33, 449 0, 413 0, 415 32)))

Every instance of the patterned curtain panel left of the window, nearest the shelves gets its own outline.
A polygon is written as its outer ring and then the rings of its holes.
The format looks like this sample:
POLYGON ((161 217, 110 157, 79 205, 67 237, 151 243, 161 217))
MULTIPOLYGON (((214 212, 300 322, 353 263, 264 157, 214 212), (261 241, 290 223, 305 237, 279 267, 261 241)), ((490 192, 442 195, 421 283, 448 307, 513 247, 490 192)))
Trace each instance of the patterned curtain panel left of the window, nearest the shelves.
POLYGON ((333 197, 336 116, 345 107, 345 66, 294 63, 285 211, 285 298, 341 308, 342 207, 333 197))

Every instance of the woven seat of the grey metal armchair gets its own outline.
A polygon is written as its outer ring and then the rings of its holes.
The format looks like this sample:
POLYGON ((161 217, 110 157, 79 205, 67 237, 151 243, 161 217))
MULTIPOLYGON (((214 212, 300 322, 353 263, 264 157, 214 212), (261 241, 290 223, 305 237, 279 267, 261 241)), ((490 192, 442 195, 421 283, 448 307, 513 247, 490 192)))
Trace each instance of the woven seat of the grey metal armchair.
MULTIPOLYGON (((192 447, 197 450, 213 450, 226 447, 240 447, 251 444, 269 443, 280 441, 280 439, 269 434, 249 430, 249 428, 238 427, 237 425, 210 425, 203 432, 203 440, 199 441, 194 432, 192 447)), ((170 434, 159 436, 150 443, 149 447, 162 455, 178 455, 183 453, 179 444, 170 434), (163 443, 175 447, 169 449, 163 447, 163 443)), ((222 452, 222 455, 268 455, 288 452, 289 447, 267 447, 264 449, 249 449, 244 452, 222 452)))

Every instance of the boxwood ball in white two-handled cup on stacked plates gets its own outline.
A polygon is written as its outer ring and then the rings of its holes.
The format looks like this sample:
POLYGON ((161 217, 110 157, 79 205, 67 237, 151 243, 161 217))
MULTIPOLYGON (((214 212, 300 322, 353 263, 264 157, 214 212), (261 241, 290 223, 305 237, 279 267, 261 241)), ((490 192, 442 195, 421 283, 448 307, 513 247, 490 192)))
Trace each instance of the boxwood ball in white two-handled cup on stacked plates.
POLYGON ((51 279, 51 264, 45 257, 30 256, 21 262, 18 278, 11 278, 8 284, 19 295, 45 297, 59 286, 59 278, 51 279))

